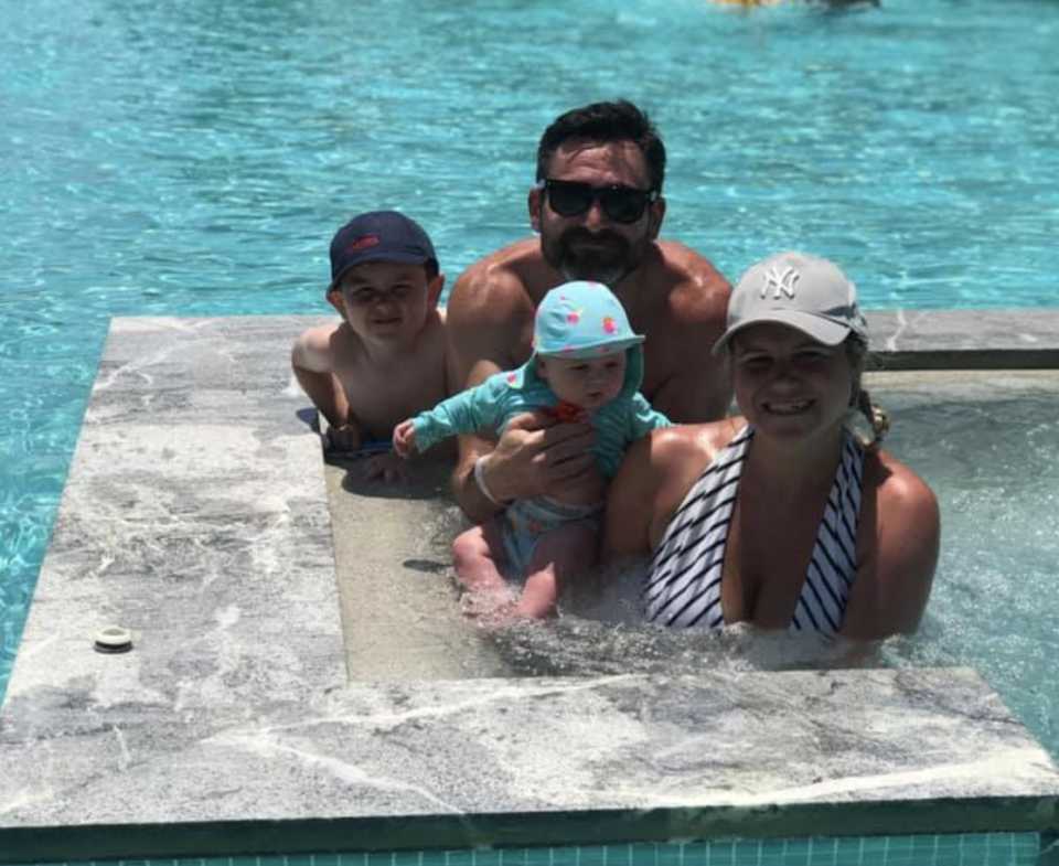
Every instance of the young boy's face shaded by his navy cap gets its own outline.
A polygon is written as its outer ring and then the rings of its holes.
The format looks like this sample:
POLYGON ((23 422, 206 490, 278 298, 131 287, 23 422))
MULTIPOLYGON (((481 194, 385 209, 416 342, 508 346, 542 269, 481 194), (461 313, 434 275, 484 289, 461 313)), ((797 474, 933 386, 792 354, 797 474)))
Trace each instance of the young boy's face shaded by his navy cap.
POLYGON ((403 342, 422 329, 443 285, 440 274, 428 279, 424 265, 368 261, 342 277, 328 301, 362 340, 403 342))

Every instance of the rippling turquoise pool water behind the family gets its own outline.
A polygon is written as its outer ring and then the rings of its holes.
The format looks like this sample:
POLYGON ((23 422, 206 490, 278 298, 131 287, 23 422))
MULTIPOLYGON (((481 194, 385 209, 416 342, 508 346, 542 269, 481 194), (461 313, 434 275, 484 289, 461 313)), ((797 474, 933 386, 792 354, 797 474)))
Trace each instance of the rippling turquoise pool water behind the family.
POLYGON ((110 317, 328 312, 330 236, 374 207, 451 284, 527 233, 547 122, 617 96, 667 142, 665 234, 729 277, 799 246, 871 308, 1049 306, 1057 34, 1037 0, 6 4, 0 695, 110 317))

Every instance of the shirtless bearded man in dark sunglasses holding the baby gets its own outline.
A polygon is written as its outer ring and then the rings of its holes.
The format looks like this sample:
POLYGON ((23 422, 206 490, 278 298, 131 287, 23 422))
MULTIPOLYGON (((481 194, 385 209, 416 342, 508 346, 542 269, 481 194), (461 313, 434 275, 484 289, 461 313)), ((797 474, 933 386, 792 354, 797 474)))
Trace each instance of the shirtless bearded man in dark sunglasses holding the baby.
MULTIPOLYGON (((725 328, 730 287, 688 247, 659 240, 665 216, 665 148, 628 101, 596 103, 557 118, 537 149, 530 223, 539 238, 511 244, 472 265, 448 303, 448 373, 470 387, 525 363, 533 317, 567 280, 611 288, 635 332, 646 335, 642 391, 673 421, 723 417, 727 375, 709 346, 725 328)), ((537 413, 513 419, 498 442, 460 440, 457 501, 481 522, 513 499, 547 495, 589 471, 596 434, 537 413)))

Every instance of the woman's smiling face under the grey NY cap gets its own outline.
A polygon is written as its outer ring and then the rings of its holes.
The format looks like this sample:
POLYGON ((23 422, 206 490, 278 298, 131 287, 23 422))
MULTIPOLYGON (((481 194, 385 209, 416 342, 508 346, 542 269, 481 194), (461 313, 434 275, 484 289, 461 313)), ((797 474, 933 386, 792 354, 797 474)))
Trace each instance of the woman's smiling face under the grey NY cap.
POLYGON ((736 400, 757 430, 806 439, 843 426, 854 384, 844 345, 782 324, 747 328, 731 345, 736 400))

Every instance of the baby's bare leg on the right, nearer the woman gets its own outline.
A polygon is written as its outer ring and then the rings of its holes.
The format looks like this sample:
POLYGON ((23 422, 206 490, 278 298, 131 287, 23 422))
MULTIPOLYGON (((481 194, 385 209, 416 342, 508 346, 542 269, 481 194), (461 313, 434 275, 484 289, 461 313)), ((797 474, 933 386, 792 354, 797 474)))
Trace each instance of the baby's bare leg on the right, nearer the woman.
POLYGON ((525 619, 555 616, 555 606, 570 581, 587 576, 599 558, 599 533, 570 523, 545 533, 530 557, 526 585, 515 607, 525 619))

